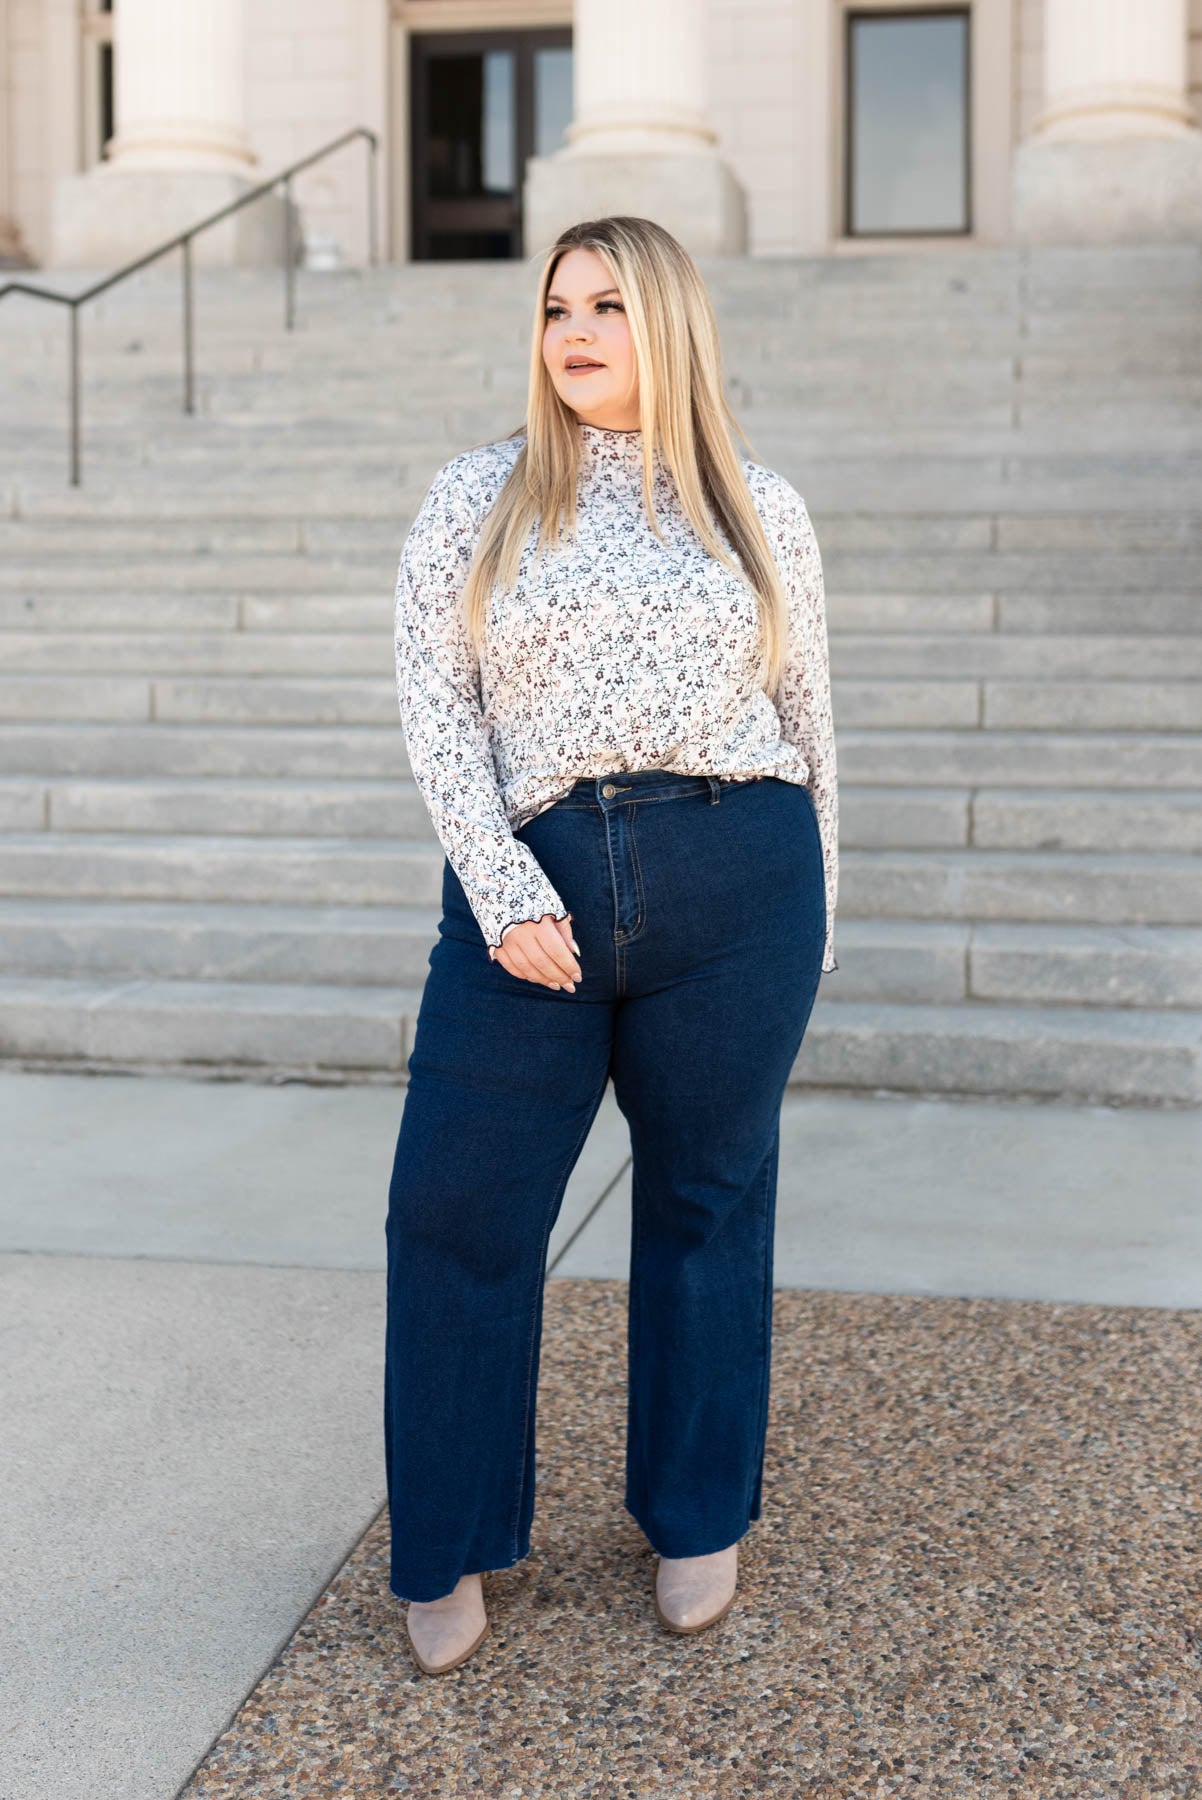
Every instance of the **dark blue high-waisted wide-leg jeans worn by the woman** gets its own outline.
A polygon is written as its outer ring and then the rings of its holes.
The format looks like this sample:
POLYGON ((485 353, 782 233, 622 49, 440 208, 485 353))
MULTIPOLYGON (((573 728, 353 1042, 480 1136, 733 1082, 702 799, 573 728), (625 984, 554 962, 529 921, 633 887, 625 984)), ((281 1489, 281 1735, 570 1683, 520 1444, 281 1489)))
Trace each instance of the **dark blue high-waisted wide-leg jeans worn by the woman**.
POLYGON ((516 833, 581 981, 491 961, 448 862, 385 1224, 385 1462, 403 1600, 529 1553, 547 1238, 605 1096, 630 1125, 624 1507, 664 1557, 761 1512, 781 1102, 819 986, 810 792, 659 769, 516 833))

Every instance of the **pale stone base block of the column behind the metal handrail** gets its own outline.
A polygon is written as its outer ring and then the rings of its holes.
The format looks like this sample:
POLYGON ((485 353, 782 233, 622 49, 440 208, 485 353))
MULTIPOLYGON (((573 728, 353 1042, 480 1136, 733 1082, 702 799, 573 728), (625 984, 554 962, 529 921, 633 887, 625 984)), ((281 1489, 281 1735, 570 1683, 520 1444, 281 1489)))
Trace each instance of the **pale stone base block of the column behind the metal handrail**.
MULTIPOLYGON (((225 169, 121 169, 97 162, 83 175, 63 175, 54 189, 49 266, 117 268, 252 187, 256 180, 225 169)), ((283 259, 281 189, 193 241, 196 268, 279 266, 283 259)))

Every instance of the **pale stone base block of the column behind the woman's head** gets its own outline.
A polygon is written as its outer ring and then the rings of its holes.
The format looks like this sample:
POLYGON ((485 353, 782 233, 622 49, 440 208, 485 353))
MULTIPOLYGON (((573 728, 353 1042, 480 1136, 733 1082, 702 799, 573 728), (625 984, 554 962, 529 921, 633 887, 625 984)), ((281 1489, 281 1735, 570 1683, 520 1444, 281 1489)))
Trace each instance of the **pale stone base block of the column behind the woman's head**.
POLYGON ((531 157, 524 189, 524 254, 545 254, 579 220, 633 212, 678 238, 689 256, 747 254, 747 194, 716 155, 531 157))

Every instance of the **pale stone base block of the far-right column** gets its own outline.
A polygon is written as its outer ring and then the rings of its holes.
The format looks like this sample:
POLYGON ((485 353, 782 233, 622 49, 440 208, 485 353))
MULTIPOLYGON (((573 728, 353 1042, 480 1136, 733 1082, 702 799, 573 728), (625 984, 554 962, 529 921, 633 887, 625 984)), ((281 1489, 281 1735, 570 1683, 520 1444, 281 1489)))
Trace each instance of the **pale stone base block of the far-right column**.
POLYGON ((1202 131, 1018 144, 1013 236, 1020 245, 1202 239, 1202 131))

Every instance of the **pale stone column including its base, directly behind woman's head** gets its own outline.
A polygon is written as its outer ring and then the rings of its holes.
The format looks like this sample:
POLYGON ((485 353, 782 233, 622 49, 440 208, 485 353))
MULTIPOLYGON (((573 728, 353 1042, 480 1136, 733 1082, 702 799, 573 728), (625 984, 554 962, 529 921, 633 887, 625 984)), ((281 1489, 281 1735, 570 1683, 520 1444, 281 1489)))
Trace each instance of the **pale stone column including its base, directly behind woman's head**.
POLYGON ((565 225, 637 212, 691 256, 747 250, 747 200, 707 119, 704 0, 576 0, 574 121, 525 167, 525 254, 565 225))

